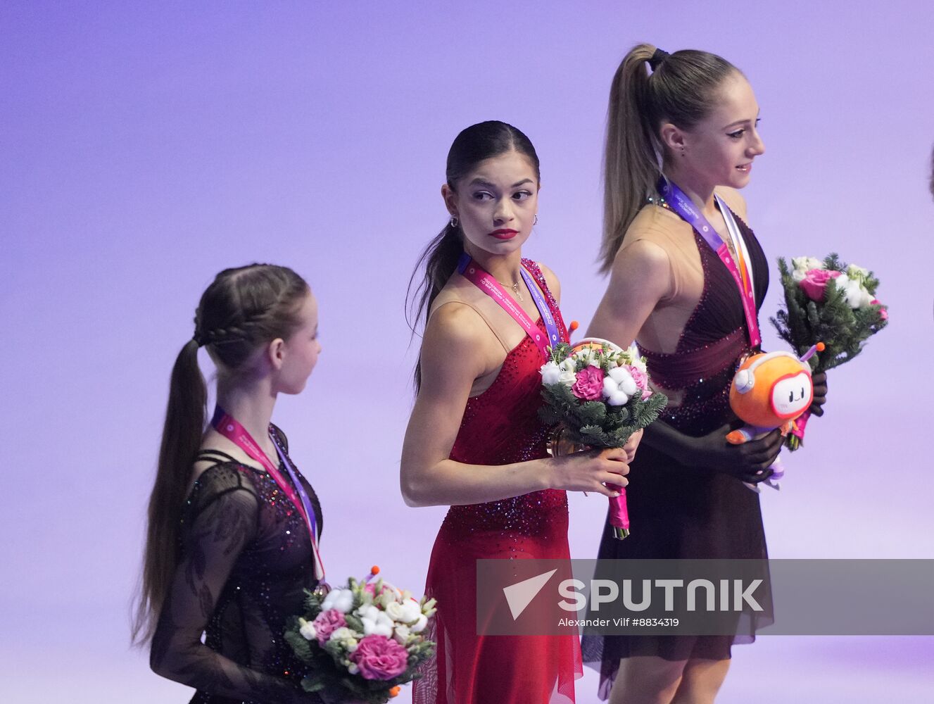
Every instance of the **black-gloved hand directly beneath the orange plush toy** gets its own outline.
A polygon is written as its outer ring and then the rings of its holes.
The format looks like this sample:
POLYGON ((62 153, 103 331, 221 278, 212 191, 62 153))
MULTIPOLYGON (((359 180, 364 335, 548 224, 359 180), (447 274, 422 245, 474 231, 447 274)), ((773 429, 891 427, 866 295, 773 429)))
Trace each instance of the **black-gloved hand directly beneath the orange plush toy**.
POLYGON ((687 466, 724 472, 750 484, 768 479, 772 474, 769 466, 778 457, 784 442, 781 430, 774 429, 748 443, 729 444, 729 431, 742 425, 728 424, 700 438, 684 435, 684 446, 678 459, 687 466))

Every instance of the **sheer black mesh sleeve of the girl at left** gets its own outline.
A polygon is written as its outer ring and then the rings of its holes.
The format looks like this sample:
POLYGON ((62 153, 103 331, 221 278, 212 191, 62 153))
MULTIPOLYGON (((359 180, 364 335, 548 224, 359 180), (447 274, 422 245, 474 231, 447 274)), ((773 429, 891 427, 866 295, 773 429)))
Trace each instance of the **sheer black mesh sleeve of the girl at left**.
POLYGON ((257 532, 259 500, 230 465, 206 470, 196 486, 182 527, 183 556, 152 639, 152 669, 219 697, 319 702, 294 683, 239 665, 201 641, 234 562, 257 532))

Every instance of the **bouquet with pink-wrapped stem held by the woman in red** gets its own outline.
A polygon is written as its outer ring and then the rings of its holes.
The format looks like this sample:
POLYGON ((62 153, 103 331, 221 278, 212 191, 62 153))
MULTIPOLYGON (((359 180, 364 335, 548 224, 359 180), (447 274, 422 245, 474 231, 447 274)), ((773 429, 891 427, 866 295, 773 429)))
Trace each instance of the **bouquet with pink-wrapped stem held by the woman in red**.
MULTIPOLYGON (((622 447, 668 403, 668 397, 649 388, 645 360, 634 347, 622 349, 595 337, 556 345, 541 373, 545 405, 539 416, 547 425, 559 425, 574 444, 622 447)), ((610 488, 619 491, 610 500, 610 524, 622 540, 630 534, 626 490, 610 488)))

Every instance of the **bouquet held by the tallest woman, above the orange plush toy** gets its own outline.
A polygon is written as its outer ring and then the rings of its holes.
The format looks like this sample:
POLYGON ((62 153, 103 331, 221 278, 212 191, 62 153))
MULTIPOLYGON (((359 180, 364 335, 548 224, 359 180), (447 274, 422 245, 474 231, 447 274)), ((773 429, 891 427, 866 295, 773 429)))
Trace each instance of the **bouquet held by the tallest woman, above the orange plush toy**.
MULTIPOLYGON (((785 310, 771 318, 772 325, 786 343, 802 355, 819 341, 825 350, 810 359, 813 373, 826 372, 853 359, 864 343, 881 331, 888 320, 888 309, 875 292, 879 279, 856 264, 847 266, 830 254, 825 260, 796 257, 791 269, 778 260, 785 289, 785 310)), ((805 412, 785 439, 790 450, 797 450, 811 414, 805 412)))

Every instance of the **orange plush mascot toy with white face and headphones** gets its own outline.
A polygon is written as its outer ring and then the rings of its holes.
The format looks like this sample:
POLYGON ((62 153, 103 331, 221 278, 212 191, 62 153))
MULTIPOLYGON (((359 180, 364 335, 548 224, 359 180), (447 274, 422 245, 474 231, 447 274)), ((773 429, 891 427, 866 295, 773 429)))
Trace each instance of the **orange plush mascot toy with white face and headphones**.
MULTIPOLYGON (((807 360, 823 349, 824 344, 817 343, 801 358, 791 352, 762 352, 745 359, 729 387, 729 406, 747 425, 730 432, 727 442, 747 443, 776 428, 787 435, 795 419, 814 400, 814 382, 807 360)), ((781 458, 775 458, 770 469, 773 473, 765 484, 777 489, 778 480, 785 474, 781 458)), ((759 491, 757 485, 746 486, 759 491)))

